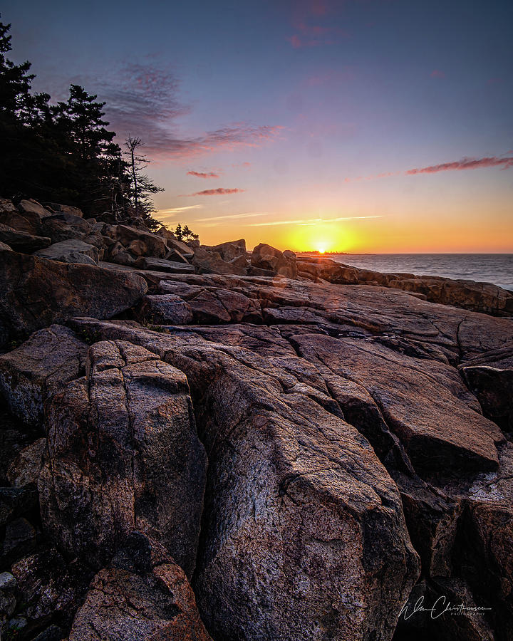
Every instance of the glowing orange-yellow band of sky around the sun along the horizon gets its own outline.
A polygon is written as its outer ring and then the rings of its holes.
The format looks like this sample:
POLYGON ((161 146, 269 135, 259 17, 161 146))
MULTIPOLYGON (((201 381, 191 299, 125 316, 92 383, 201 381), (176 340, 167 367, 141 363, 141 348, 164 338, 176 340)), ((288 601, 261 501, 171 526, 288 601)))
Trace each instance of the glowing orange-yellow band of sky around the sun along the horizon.
POLYGON ((442 198, 439 193, 430 201, 412 202, 399 192, 383 197, 382 207, 376 206, 375 194, 369 200, 371 193, 369 186, 360 187, 343 209, 332 202, 325 207, 305 203, 302 208, 278 199, 274 212, 256 211, 247 197, 247 210, 238 210, 241 213, 232 213, 237 209, 232 209, 230 200, 215 209, 209 209, 207 202, 197 208, 157 212, 155 217, 170 228, 177 222, 188 224, 206 245, 244 238, 248 249, 264 242, 282 251, 513 253, 513 208, 504 193, 459 199, 457 193, 449 197, 445 191, 442 198), (312 211, 321 213, 305 213, 312 211))

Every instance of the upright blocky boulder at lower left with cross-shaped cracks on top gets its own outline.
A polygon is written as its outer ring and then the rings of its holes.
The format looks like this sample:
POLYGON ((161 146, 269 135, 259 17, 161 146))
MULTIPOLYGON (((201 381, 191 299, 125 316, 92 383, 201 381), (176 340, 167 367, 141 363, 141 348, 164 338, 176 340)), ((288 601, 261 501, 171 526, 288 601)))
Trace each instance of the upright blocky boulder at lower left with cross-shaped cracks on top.
POLYGON ((86 371, 46 407, 46 531, 101 568, 135 526, 190 575, 206 457, 185 375, 123 341, 92 345, 86 371))

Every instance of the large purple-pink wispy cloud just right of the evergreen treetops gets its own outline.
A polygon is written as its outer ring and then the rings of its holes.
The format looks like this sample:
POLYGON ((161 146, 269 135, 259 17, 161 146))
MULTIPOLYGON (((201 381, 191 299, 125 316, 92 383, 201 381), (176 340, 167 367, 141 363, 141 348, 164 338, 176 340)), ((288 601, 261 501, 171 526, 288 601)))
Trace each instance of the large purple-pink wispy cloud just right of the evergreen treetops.
POLYGON ((232 123, 218 129, 183 135, 177 120, 191 113, 179 99, 180 80, 174 70, 152 64, 133 63, 111 69, 98 78, 80 78, 88 90, 106 101, 110 127, 124 140, 138 135, 145 152, 155 160, 195 157, 215 150, 259 147, 274 140, 284 127, 232 123))

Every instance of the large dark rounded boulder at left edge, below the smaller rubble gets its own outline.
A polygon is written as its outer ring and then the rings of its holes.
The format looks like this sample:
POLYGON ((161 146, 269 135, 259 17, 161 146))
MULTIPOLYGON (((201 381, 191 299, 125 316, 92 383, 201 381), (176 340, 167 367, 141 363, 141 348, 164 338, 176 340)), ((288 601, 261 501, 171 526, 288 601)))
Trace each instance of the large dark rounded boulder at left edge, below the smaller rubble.
POLYGON ((73 316, 111 318, 147 291, 134 273, 1 251, 0 347, 73 316))

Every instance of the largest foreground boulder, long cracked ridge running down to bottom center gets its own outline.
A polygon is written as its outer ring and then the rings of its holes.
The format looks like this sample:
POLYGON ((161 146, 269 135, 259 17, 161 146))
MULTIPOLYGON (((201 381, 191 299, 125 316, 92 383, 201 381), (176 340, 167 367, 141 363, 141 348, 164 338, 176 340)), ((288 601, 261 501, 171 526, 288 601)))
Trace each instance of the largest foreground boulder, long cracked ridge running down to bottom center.
POLYGON ((209 481, 195 587, 214 637, 389 640, 418 558, 395 483, 315 368, 266 328, 207 339, 202 328, 75 323, 157 350, 202 399, 209 481))

